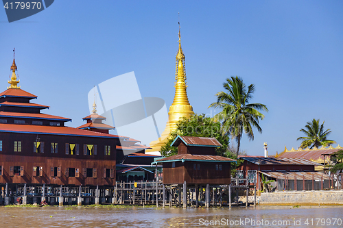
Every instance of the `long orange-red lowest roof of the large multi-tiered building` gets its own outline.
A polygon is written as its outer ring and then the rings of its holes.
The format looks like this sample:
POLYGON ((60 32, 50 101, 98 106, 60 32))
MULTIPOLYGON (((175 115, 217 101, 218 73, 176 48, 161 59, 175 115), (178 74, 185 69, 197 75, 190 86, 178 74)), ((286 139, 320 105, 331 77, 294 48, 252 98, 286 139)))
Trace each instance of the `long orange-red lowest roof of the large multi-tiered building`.
POLYGON ((9 123, 0 123, 0 131, 2 132, 20 132, 27 134, 51 134, 51 135, 67 135, 67 136, 88 136, 99 138, 121 138, 121 136, 100 133, 96 131, 88 131, 73 127, 55 127, 41 125, 15 125, 9 123))

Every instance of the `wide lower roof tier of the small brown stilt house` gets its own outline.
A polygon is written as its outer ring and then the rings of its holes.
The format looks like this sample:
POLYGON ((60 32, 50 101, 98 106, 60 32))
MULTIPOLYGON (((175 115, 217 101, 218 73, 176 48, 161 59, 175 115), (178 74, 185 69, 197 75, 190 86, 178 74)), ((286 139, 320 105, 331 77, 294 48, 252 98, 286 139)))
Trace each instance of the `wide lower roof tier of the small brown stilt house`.
POLYGON ((236 162, 236 160, 233 160, 228 157, 222 157, 218 155, 193 155, 193 154, 178 154, 173 155, 170 157, 165 157, 159 160, 156 160, 155 163, 163 163, 163 162, 190 162, 190 161, 198 161, 198 162, 236 162))

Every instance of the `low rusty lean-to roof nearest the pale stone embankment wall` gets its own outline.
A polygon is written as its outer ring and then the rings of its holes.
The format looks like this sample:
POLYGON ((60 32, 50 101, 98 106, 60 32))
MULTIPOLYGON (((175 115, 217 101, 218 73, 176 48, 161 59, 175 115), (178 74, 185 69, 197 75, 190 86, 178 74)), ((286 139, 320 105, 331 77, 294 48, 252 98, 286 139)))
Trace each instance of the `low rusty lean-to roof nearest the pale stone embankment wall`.
POLYGON ((316 171, 309 171, 309 172, 266 172, 266 171, 259 171, 259 173, 262 173, 263 175, 266 175, 268 177, 272 178, 278 178, 278 179, 294 179, 296 177, 297 180, 300 179, 315 179, 320 180, 323 179, 329 179, 330 176, 326 175, 324 173, 316 172, 316 171))

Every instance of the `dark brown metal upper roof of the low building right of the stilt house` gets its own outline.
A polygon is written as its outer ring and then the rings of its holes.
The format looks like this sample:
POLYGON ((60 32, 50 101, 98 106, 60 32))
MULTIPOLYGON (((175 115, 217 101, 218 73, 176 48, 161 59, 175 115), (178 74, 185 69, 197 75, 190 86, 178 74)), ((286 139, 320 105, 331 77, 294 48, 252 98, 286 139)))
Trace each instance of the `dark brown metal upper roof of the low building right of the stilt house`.
POLYGON ((257 165, 313 165, 320 166, 317 162, 311 162, 304 158, 280 158, 280 157, 239 157, 257 165))

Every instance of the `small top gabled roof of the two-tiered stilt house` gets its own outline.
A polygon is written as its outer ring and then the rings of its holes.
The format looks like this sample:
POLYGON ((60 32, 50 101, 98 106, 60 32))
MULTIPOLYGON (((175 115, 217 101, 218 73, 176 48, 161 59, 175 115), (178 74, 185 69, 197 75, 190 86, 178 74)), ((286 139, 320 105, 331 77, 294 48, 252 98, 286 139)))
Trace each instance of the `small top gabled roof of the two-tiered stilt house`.
POLYGON ((218 142, 216 138, 207 137, 192 137, 192 136, 177 136, 171 147, 178 147, 180 142, 184 142, 187 146, 198 146, 198 147, 222 147, 222 144, 218 142))

